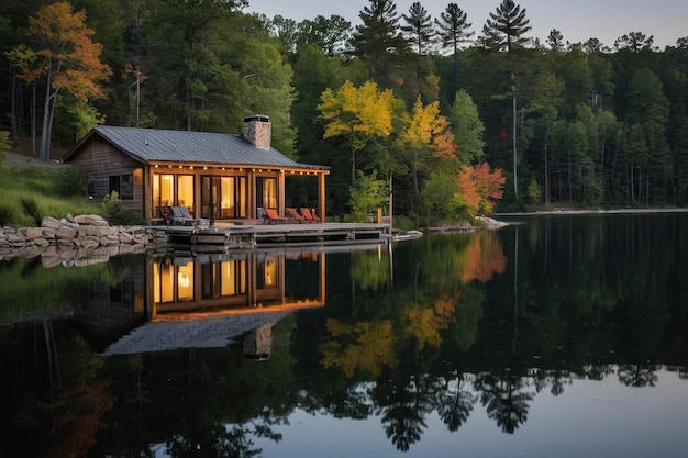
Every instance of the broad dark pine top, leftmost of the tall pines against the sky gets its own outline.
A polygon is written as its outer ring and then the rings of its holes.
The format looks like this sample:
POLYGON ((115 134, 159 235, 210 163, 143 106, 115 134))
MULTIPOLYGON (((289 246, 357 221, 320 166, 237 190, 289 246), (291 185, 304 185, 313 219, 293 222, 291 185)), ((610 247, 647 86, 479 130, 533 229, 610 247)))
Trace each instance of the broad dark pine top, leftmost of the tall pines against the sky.
POLYGON ((392 0, 370 0, 358 16, 363 24, 353 34, 354 54, 367 64, 371 79, 387 86, 392 58, 401 58, 408 45, 399 30, 397 4, 392 0))

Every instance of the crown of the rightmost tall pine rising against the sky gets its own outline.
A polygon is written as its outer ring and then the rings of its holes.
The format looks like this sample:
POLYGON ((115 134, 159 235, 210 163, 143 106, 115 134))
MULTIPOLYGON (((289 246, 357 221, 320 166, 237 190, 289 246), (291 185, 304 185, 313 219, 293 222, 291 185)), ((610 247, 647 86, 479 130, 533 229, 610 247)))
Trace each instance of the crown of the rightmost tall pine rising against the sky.
POLYGON ((522 47, 528 42, 529 38, 523 35, 532 29, 529 24, 525 8, 521 9, 513 0, 502 0, 482 26, 484 40, 488 47, 511 55, 513 48, 522 47))

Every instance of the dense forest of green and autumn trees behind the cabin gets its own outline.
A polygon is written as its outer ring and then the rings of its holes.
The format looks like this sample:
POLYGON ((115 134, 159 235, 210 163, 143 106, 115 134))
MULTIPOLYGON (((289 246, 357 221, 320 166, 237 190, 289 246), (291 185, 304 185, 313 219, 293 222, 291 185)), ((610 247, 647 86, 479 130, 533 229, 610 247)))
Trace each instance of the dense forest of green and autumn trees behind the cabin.
POLYGON ((53 160, 99 123, 237 133, 267 114, 354 220, 688 202, 688 36, 541 43, 513 0, 488 18, 360 3, 352 24, 246 0, 5 0, 0 134, 53 160))

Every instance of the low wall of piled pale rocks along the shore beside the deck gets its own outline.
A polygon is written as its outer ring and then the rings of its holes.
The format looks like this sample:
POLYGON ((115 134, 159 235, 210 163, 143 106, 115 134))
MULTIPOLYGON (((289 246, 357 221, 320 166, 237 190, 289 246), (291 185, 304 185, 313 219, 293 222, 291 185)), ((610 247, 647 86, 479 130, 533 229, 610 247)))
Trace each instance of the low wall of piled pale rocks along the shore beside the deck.
POLYGON ((164 244, 165 231, 145 226, 110 226, 99 215, 45 216, 41 227, 0 228, 0 260, 41 256, 43 265, 88 265, 110 256, 143 253, 164 244))

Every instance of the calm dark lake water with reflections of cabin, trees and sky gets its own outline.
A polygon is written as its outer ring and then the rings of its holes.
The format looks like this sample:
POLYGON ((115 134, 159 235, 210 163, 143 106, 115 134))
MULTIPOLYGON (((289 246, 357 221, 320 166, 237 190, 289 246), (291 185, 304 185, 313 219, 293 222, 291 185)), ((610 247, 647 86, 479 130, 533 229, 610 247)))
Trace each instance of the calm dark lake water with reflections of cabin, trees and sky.
POLYGON ((508 221, 2 260, 0 456, 685 457, 688 213, 508 221))

